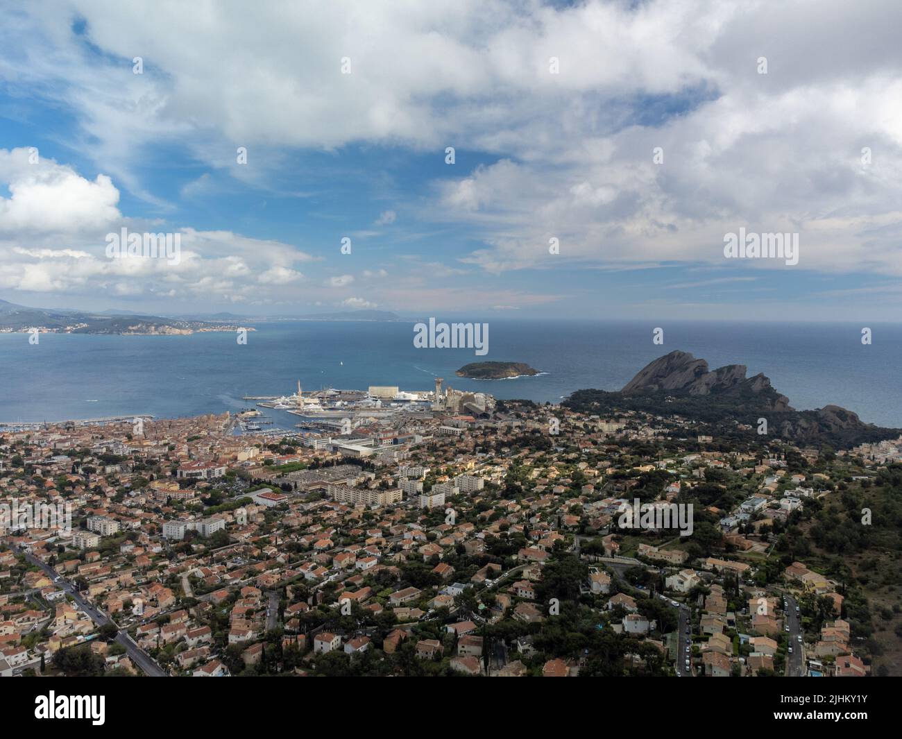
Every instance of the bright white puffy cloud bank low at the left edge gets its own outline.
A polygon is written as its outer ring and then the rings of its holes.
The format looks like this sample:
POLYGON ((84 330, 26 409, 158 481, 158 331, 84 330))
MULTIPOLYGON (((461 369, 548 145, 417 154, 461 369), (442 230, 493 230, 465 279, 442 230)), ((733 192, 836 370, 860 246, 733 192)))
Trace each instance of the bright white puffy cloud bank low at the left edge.
POLYGON ((234 301, 266 285, 290 298, 287 286, 303 278, 294 265, 315 260, 278 241, 125 217, 109 177, 91 182, 49 159, 30 164, 27 149, 0 150, 3 185, 11 197, 0 198, 0 289, 234 301), (179 260, 108 257, 106 235, 122 228, 178 235, 179 260))

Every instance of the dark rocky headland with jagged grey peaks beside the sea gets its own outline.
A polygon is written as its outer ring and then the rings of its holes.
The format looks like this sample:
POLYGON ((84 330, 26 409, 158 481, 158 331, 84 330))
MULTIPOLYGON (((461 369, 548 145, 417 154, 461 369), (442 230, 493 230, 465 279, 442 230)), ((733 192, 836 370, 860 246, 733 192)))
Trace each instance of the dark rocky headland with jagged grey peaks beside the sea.
POLYGON ((737 434, 737 429, 756 434, 760 418, 767 420, 769 436, 803 443, 851 447, 902 434, 902 430, 864 423, 852 411, 836 405, 796 411, 764 374, 745 374, 745 365, 710 371, 704 359, 674 351, 643 367, 619 393, 577 390, 562 404, 589 413, 643 411, 682 416, 707 424, 713 435, 722 437, 737 434))

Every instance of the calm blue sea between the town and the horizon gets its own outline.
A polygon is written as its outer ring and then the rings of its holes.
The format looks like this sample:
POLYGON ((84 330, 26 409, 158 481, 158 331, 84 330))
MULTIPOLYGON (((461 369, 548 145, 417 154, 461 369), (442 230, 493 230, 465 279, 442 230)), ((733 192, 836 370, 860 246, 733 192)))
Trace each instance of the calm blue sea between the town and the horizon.
MULTIPOLYGON (((413 321, 251 323, 247 343, 229 332, 189 336, 0 334, 0 422, 83 420, 150 414, 178 418, 239 411, 244 396, 334 387, 446 386, 499 399, 557 403, 582 388, 619 390, 674 349, 764 373, 798 410, 841 405, 861 420, 902 428, 902 325, 505 319, 489 321, 489 351, 417 348, 413 321), (655 344, 655 328, 663 343, 655 344), (525 362, 541 374, 468 380, 471 362, 525 362)), ((273 427, 299 419, 262 409, 273 427)))

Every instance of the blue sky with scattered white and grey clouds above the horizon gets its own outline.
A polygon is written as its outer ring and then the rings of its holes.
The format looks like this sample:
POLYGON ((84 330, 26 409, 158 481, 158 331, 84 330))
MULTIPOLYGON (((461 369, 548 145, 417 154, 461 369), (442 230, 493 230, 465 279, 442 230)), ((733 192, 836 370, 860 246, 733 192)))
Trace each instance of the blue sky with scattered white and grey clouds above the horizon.
POLYGON ((896 0, 0 0, 0 15, 0 299, 902 316, 896 0), (122 228, 179 234, 178 263, 111 258, 122 228), (725 256, 741 229, 793 235, 797 263, 725 256))

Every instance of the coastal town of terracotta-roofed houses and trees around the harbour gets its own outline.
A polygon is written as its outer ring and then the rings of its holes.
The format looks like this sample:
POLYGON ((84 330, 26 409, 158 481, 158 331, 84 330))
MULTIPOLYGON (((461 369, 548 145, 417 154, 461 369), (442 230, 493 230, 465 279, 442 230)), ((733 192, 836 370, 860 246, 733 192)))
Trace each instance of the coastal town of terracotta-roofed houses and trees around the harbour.
POLYGON ((355 397, 331 431, 0 430, 0 675, 886 673, 898 605, 843 559, 902 439, 728 445, 441 383, 355 397))

